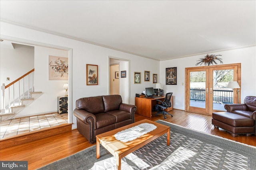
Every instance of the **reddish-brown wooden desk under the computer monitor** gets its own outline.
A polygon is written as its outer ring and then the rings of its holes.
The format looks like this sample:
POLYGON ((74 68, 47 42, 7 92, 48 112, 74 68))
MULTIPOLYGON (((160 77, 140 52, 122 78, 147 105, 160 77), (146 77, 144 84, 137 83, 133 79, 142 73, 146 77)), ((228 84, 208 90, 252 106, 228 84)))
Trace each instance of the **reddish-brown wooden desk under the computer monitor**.
MULTIPOLYGON (((154 109, 155 105, 158 103, 156 100, 164 101, 164 98, 165 98, 164 95, 162 95, 160 98, 135 97, 135 106, 137 107, 137 111, 135 113, 151 118, 152 110, 154 109)), ((171 97, 171 104, 172 104, 172 97, 171 97)), ((171 111, 172 106, 164 110, 171 111)))

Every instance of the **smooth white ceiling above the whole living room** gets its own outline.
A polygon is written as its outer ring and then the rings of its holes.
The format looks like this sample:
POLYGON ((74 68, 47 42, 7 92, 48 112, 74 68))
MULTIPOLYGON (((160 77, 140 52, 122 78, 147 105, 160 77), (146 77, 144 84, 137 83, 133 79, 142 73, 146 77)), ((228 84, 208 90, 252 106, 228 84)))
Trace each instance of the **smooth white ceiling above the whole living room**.
POLYGON ((256 44, 256 1, 12 1, 0 19, 159 61, 256 44))

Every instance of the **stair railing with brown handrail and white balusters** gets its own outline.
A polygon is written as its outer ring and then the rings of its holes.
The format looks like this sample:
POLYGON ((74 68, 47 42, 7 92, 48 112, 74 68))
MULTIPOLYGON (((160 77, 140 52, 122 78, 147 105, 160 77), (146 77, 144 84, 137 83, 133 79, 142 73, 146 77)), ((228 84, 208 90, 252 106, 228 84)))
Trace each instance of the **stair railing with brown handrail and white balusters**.
POLYGON ((34 92, 34 71, 33 68, 23 76, 20 76, 10 84, 6 85, 3 83, 1 86, 1 113, 5 113, 6 107, 8 107, 8 112, 10 112, 10 106, 15 106, 15 102, 18 105, 21 104, 20 97, 25 98, 25 94, 28 93, 28 98, 31 98, 29 92, 34 92), (30 82, 31 81, 31 82, 30 82), (12 90, 10 88, 12 87, 12 90), (21 89, 22 88, 22 95, 21 89), (25 91, 27 89, 28 91, 25 91), (5 96, 5 90, 8 91, 8 96, 5 96), (17 92, 18 91, 18 92, 17 92), (8 99, 8 105, 5 105, 5 101, 8 99))

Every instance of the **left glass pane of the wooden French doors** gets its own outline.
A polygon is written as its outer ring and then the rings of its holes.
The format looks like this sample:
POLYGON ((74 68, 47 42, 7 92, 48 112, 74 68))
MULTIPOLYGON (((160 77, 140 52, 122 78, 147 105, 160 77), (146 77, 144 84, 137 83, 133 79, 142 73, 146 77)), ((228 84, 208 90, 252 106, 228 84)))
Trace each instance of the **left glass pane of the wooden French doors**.
POLYGON ((190 106, 206 108, 206 71, 190 72, 190 106))

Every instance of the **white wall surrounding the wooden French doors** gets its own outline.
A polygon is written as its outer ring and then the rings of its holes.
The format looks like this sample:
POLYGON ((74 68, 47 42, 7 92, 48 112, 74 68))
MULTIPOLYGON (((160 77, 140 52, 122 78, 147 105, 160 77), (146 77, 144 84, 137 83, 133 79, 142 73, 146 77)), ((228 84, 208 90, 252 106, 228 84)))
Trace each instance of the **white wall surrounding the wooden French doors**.
MULTIPOLYGON (((222 55, 223 64, 241 63, 241 101, 243 103, 246 96, 256 96, 256 47, 221 51, 211 53, 222 55)), ((160 82, 164 93, 173 92, 173 107, 185 109, 185 68, 195 67, 200 58, 205 55, 197 55, 181 59, 160 61, 160 82), (165 85, 165 68, 177 67, 177 85, 165 85)), ((218 64, 220 64, 218 62, 218 64)), ((202 65, 204 66, 204 65, 202 65)))

